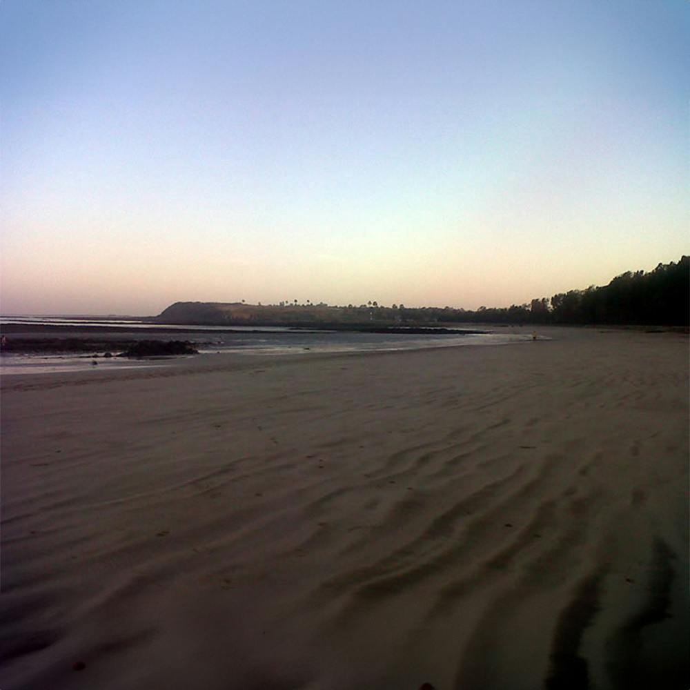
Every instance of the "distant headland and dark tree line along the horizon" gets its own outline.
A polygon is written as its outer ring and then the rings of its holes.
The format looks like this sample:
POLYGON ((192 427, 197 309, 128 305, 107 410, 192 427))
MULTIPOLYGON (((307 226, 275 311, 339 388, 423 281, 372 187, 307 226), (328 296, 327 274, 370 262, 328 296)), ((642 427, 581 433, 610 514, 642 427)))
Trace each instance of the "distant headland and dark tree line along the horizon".
POLYGON ((279 304, 175 302, 152 322, 197 326, 292 326, 371 331, 424 328, 438 324, 610 324, 688 326, 690 257, 654 270, 628 271, 608 285, 570 290, 529 304, 476 311, 446 307, 382 306, 377 302, 331 306, 297 300, 279 304))

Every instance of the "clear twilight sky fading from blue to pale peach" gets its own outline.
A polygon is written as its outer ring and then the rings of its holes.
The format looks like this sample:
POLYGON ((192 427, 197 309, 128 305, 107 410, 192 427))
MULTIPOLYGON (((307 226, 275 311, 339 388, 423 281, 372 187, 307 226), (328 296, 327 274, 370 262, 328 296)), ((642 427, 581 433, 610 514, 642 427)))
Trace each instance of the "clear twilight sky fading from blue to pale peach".
POLYGON ((0 311, 509 306, 690 253, 685 0, 3 0, 0 311))

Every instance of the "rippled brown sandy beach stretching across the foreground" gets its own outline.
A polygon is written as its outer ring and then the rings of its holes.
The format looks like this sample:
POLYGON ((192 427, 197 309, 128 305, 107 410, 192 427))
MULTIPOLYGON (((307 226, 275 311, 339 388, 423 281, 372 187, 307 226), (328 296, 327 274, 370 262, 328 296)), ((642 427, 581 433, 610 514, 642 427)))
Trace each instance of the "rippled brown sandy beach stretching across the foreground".
POLYGON ((5 377, 0 687, 687 688, 687 337, 540 332, 5 377))

